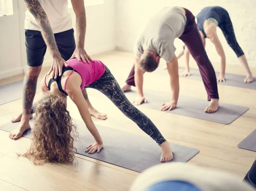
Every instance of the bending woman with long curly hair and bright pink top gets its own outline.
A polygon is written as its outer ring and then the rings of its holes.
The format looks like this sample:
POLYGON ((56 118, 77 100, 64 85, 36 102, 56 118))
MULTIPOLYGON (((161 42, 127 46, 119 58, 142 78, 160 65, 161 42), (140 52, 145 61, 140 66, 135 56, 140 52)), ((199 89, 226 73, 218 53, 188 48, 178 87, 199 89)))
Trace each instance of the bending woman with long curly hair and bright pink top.
MULTIPOLYGON (((157 127, 145 114, 134 107, 126 98, 116 79, 108 67, 101 61, 94 60, 90 64, 78 61, 77 58, 67 61, 62 68, 62 75, 52 79, 49 75, 41 81, 44 92, 42 98, 33 105, 35 127, 32 130, 31 147, 23 156, 35 164, 40 162, 68 162, 73 159, 76 149, 73 146, 76 126, 67 111, 67 96, 76 104, 81 117, 95 139, 85 152, 99 152, 103 141, 93 120, 91 119, 83 95, 85 88, 99 90, 107 96, 119 110, 134 121, 141 130, 147 133, 162 148, 161 162, 171 161, 172 149, 157 127)), ((15 121, 20 119, 22 114, 15 121)), ((14 121, 14 122, 15 122, 14 121)), ((27 127, 29 129, 30 127, 27 127)), ((9 135, 13 139, 12 134, 9 135)))

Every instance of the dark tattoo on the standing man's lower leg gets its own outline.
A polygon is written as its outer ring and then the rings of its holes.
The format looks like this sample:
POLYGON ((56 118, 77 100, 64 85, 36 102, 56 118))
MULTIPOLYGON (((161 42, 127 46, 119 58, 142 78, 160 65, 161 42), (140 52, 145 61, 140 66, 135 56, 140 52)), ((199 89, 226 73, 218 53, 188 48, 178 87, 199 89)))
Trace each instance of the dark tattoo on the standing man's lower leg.
POLYGON ((27 115, 31 114, 32 104, 36 92, 37 79, 37 76, 26 76, 23 109, 26 110, 27 115))

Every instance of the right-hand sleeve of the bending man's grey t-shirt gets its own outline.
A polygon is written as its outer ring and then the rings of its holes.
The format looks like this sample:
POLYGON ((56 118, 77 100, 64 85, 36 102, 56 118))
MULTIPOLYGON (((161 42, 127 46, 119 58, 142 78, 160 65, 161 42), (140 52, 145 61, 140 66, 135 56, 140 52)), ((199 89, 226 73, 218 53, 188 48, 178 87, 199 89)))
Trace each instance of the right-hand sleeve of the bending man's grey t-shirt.
POLYGON ((165 61, 168 63, 172 61, 174 55, 175 55, 175 46, 172 41, 165 41, 163 45, 160 47, 160 57, 165 59, 165 61))

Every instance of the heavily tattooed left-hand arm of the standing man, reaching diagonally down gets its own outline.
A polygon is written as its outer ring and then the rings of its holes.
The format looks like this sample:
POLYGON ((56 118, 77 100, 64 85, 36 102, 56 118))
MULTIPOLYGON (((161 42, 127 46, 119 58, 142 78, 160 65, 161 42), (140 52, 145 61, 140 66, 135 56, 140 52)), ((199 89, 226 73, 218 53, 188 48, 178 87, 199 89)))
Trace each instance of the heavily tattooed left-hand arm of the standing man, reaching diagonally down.
POLYGON ((48 75, 52 72, 52 78, 57 78, 58 72, 59 75, 62 74, 62 67, 66 62, 61 58, 61 55, 58 51, 58 47, 55 42, 54 34, 50 26, 47 14, 42 8, 39 0, 24 0, 26 7, 29 12, 35 17, 35 20, 38 22, 38 25, 41 28, 42 36, 44 38, 47 47, 53 58, 53 64, 51 69, 48 72, 48 75))

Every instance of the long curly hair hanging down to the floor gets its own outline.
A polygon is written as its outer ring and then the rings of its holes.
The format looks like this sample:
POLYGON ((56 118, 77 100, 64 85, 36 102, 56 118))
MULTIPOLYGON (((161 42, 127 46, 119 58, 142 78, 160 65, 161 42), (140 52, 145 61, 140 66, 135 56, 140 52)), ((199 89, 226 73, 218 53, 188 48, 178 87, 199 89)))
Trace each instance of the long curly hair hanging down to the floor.
POLYGON ((36 165, 72 161, 76 153, 73 145, 76 134, 65 99, 44 93, 35 107, 30 148, 22 156, 36 165))

